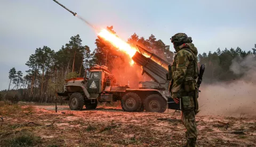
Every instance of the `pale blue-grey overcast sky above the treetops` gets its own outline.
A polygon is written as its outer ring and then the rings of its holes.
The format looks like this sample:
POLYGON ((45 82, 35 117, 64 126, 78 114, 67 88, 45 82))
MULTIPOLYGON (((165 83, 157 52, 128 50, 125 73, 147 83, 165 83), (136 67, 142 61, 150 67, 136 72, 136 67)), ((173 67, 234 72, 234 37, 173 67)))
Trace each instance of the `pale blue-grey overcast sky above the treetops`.
MULTIPOLYGON (((71 36, 79 34, 83 45, 95 48, 97 34, 84 22, 51 0, 0 0, 0 90, 8 87, 9 70, 26 75, 25 63, 38 47, 58 51, 71 36)), ((59 0, 94 26, 114 30, 123 40, 134 32, 150 34, 167 45, 171 36, 185 32, 199 53, 256 43, 255 0, 59 0)))

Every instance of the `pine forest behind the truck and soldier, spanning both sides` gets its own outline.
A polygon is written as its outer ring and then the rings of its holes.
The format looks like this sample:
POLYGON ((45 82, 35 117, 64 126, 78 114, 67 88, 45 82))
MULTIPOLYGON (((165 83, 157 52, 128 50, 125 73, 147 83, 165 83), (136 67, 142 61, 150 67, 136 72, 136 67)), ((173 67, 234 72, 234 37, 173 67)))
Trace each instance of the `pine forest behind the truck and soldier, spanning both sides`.
MULTIPOLYGON (((107 29, 116 34, 113 26, 107 29)), ((133 47, 140 45, 172 64, 173 47, 165 45, 154 35, 144 38, 134 33, 127 39, 127 43, 133 47)), ((0 92, 0 100, 3 100, 4 95, 8 93, 11 96, 17 94, 19 101, 54 102, 55 89, 62 91, 65 79, 83 77, 85 69, 93 64, 107 66, 111 71, 114 70, 117 61, 121 64, 126 63, 127 56, 118 52, 117 48, 100 36, 95 39, 95 45, 97 48, 92 51, 89 46, 83 45, 82 39, 76 35, 70 38, 69 43, 62 45, 59 51, 48 46, 36 48, 35 53, 31 54, 26 62, 28 67, 26 74, 17 71, 15 67, 10 69, 9 87, 0 92)), ((224 50, 217 48, 213 53, 198 54, 198 64, 205 64, 206 67, 204 83, 229 82, 242 78, 245 72, 234 72, 231 64, 234 61, 242 62, 248 57, 250 61, 256 61, 256 44, 252 45, 252 49, 247 52, 237 47, 224 50)), ((256 65, 252 64, 252 66, 256 65)), ((251 67, 247 66, 247 68, 251 67)), ((5 96, 5 99, 8 98, 5 96)))

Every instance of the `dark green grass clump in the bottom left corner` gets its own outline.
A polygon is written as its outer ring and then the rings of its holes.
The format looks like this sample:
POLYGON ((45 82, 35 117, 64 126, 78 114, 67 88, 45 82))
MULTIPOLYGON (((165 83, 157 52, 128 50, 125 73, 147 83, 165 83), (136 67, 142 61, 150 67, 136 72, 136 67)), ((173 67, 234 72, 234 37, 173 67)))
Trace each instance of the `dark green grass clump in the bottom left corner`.
POLYGON ((41 142, 41 138, 35 136, 34 133, 29 131, 19 132, 18 134, 14 134, 10 140, 7 140, 6 146, 34 146, 37 143, 41 142))

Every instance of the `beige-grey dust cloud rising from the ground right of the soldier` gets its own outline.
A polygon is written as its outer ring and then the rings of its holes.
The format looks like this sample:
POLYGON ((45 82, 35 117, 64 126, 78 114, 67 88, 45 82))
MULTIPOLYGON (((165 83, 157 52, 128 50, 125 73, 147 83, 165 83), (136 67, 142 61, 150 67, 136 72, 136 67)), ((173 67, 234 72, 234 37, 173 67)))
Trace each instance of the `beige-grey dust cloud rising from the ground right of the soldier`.
POLYGON ((230 70, 241 76, 230 83, 201 85, 198 115, 256 117, 256 61, 253 56, 235 58, 230 70))

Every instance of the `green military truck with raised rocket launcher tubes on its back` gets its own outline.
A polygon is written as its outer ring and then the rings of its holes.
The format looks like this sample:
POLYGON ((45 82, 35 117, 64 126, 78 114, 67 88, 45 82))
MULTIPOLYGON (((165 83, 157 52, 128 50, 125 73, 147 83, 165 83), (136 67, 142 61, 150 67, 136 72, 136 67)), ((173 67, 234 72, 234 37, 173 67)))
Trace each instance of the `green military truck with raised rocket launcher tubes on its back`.
POLYGON ((133 89, 117 84, 108 67, 94 65, 86 70, 85 75, 89 71, 88 77, 66 80, 64 92, 58 95, 69 101, 71 110, 81 110, 84 105, 86 109, 95 109, 98 102, 116 101, 121 101, 122 109, 129 112, 164 112, 167 104, 169 109, 180 110, 180 104, 175 104, 167 92, 168 63, 142 49, 140 48, 140 53, 135 53, 132 59, 142 67, 142 74, 146 73, 153 81, 141 81, 139 88, 133 89), (149 57, 144 56, 142 52, 147 52, 149 57))

